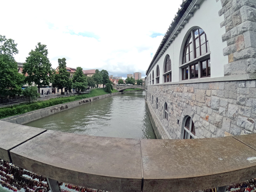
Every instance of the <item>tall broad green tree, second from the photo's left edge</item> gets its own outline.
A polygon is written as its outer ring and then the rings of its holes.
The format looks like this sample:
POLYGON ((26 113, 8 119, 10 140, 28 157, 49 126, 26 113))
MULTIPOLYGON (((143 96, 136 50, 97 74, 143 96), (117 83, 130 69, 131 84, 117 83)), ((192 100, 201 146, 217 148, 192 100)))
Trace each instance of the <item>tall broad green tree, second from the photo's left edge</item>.
POLYGON ((38 42, 35 50, 31 50, 23 65, 23 74, 28 73, 26 82, 37 84, 38 93, 42 86, 49 86, 53 78, 53 69, 47 55, 46 45, 38 42))

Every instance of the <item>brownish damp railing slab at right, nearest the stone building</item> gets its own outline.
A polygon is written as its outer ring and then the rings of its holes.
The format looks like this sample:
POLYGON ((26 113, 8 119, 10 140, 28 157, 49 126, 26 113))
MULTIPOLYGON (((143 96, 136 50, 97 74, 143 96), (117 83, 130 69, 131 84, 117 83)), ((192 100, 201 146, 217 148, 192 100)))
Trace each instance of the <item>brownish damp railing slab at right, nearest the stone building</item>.
POLYGON ((256 177, 256 151, 233 137, 141 140, 143 191, 192 191, 256 177))

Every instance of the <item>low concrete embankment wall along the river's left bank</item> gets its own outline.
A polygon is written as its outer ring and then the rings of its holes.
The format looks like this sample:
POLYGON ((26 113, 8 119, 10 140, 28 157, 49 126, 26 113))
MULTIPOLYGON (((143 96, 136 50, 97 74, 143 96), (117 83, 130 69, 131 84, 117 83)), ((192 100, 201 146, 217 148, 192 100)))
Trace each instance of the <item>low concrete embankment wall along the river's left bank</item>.
POLYGON ((40 110, 36 110, 36 111, 32 111, 32 112, 28 112, 28 113, 24 113, 24 114, 20 114, 20 115, 15 115, 15 116, 7 117, 7 118, 1 119, 1 120, 11 122, 11 123, 16 123, 16 124, 26 124, 26 123, 29 123, 31 121, 34 121, 34 120, 37 120, 37 119, 40 119, 43 117, 53 115, 55 113, 59 113, 59 112, 62 112, 62 111, 65 111, 65 110, 68 110, 71 108, 75 108, 76 106, 79 106, 81 104, 90 103, 90 102, 93 102, 93 101, 96 101, 99 99, 104 99, 106 97, 119 95, 119 94, 121 94, 121 93, 117 92, 117 93, 99 95, 99 96, 95 96, 95 97, 72 101, 72 102, 68 102, 68 103, 58 104, 58 105, 54 105, 54 106, 49 106, 48 108, 45 108, 45 109, 40 109, 40 110))

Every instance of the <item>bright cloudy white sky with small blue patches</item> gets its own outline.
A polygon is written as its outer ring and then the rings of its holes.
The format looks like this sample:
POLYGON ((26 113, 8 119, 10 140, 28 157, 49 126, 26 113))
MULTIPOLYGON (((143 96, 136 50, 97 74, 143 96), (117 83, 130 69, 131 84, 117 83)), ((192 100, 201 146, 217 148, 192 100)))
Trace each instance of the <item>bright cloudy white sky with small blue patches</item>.
POLYGON ((182 0, 3 1, 0 34, 18 44, 25 62, 38 42, 47 45, 55 69, 105 69, 109 75, 141 72, 153 56, 182 0))

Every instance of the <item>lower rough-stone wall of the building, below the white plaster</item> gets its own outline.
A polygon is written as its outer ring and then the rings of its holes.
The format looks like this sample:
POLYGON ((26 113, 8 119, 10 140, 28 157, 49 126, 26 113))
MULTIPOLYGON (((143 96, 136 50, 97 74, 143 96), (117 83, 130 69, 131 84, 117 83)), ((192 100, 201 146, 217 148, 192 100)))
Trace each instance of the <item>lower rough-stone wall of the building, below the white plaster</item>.
POLYGON ((181 138, 186 116, 193 119, 196 138, 256 133, 256 80, 148 86, 147 104, 172 139, 181 138))

